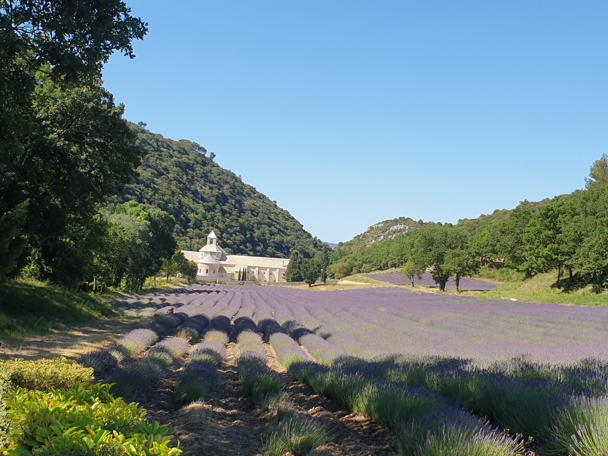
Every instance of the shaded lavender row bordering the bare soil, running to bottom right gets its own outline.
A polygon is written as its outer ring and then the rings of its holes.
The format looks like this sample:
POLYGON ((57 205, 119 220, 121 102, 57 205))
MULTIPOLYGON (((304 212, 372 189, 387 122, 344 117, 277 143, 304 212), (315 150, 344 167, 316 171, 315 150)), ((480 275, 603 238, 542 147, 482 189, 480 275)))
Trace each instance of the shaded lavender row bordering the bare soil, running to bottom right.
MULTIPOLYGON (((359 360, 356 360, 359 362, 359 360)), ((399 454, 513 456, 528 452, 520 436, 490 426, 427 389, 398 387, 373 376, 318 364, 293 365, 292 375, 314 392, 390 430, 399 454)))

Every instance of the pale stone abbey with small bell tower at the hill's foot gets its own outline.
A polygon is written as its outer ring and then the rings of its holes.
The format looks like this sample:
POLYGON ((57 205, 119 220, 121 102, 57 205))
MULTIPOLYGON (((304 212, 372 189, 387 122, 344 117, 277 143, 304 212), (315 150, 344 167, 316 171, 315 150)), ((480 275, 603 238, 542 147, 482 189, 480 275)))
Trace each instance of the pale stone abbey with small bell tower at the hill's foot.
POLYGON ((283 272, 289 260, 286 258, 250 257, 249 255, 229 255, 218 244, 215 232, 207 235, 207 245, 198 252, 182 250, 187 260, 198 264, 198 278, 238 280, 242 271, 247 280, 260 282, 285 282, 283 272))

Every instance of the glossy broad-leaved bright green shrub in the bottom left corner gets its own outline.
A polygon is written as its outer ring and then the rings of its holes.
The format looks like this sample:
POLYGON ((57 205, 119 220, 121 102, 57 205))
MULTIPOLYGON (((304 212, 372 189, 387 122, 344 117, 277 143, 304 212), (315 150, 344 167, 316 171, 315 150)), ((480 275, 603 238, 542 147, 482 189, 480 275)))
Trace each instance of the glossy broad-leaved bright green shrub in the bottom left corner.
MULTIPOLYGON (((76 382, 68 390, 9 390, 4 455, 177 456, 168 428, 148 424, 145 409, 110 393, 111 385, 76 382)), ((1 424, 1 423, 0 423, 1 424)), ((1 427, 1 426, 0 426, 1 427)))

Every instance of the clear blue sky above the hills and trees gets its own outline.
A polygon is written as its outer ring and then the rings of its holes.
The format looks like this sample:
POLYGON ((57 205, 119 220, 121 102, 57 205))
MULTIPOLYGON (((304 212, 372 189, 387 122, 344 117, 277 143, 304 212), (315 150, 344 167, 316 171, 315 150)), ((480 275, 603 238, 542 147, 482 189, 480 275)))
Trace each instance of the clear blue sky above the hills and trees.
POLYGON ((608 153, 606 1, 142 1, 126 117, 330 242, 569 193, 608 153))

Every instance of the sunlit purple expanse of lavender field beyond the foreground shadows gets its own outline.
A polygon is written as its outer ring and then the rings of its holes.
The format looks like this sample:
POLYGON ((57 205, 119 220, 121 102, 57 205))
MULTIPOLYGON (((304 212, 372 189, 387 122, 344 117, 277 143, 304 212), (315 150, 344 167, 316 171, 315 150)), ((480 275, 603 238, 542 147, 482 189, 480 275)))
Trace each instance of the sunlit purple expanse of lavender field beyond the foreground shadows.
POLYGON ((258 286, 193 285, 117 303, 128 316, 205 314, 319 334, 328 350, 452 356, 478 362, 527 356, 558 364, 608 359, 608 309, 418 294, 399 288, 307 292, 258 286))

